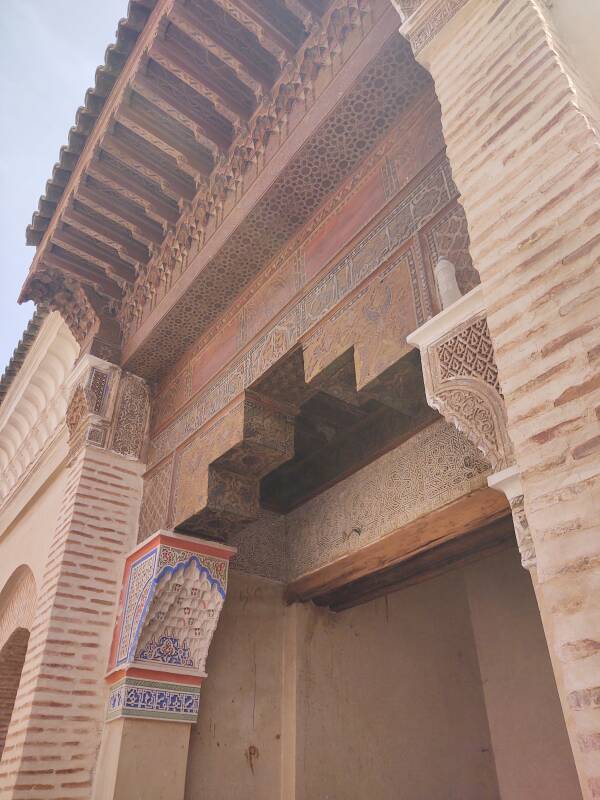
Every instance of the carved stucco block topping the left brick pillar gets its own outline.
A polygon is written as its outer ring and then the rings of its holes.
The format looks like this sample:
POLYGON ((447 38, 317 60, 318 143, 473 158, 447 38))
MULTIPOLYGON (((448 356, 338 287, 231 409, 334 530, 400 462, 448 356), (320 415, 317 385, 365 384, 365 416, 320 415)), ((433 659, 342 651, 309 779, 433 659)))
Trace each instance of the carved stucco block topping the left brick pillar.
POLYGON ((71 376, 65 421, 72 461, 85 445, 139 459, 147 439, 150 398, 146 383, 92 355, 71 376))

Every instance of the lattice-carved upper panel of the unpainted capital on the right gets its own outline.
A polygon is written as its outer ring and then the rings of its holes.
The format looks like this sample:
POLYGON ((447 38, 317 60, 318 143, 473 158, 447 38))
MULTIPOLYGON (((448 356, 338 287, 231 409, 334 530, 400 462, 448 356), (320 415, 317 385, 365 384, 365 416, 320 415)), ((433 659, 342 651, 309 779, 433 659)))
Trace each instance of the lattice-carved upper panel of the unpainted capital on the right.
POLYGON ((498 367, 494 359, 494 348, 485 317, 463 326, 436 348, 440 365, 440 378, 480 378, 498 394, 498 367))

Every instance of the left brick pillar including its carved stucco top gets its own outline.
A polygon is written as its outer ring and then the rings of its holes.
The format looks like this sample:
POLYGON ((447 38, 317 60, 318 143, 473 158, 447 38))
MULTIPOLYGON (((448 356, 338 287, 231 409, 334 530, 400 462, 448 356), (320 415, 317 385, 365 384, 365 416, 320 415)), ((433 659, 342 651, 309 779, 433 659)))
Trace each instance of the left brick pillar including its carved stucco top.
POLYGON ((85 356, 67 411, 69 480, 0 765, 3 800, 89 800, 123 561, 135 541, 144 384, 85 356))

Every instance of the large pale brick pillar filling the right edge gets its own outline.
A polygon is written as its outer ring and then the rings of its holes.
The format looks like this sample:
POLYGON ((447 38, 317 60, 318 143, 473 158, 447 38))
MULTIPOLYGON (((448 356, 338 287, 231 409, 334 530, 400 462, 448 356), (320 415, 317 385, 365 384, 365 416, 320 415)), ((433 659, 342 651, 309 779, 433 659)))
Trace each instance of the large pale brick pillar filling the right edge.
POLYGON ((397 0, 431 72, 585 798, 600 797, 600 164, 546 0, 397 0))

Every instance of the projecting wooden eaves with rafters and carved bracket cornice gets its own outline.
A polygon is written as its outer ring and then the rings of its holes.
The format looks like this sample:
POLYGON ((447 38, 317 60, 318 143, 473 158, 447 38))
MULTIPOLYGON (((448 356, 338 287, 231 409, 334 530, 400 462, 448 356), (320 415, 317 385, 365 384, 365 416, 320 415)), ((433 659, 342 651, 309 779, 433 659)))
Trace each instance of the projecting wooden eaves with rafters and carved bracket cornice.
POLYGON ((60 310, 82 344, 135 328, 368 14, 368 0, 132 0, 28 228, 21 300, 60 310))

